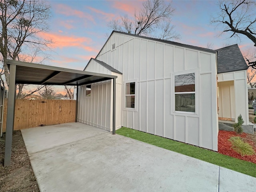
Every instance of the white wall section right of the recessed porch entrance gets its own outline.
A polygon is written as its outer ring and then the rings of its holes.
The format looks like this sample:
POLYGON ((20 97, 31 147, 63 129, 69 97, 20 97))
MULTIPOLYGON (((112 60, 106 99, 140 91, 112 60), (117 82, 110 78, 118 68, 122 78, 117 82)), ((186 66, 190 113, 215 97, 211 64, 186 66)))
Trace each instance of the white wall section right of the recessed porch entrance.
POLYGON ((249 125, 246 70, 218 74, 218 82, 225 81, 234 81, 235 121, 241 114, 244 124, 249 125))

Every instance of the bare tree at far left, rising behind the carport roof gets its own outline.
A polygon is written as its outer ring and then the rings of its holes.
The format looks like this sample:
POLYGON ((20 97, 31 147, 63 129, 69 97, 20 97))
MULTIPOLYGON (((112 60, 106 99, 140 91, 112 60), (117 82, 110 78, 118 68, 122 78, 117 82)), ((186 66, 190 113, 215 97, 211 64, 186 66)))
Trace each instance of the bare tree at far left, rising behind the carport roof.
POLYGON ((51 43, 38 36, 39 32, 48 30, 50 6, 43 0, 0 0, 0 10, 0 52, 8 85, 9 70, 5 59, 24 61, 28 53, 44 53, 51 43))

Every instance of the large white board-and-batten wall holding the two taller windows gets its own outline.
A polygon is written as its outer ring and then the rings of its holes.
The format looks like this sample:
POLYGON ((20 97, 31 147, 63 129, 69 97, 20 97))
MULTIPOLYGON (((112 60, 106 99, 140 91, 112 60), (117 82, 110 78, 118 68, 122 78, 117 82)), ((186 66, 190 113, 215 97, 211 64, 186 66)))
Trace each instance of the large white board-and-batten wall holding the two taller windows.
POLYGON ((218 150, 216 54, 114 33, 96 59, 122 72, 123 85, 136 82, 135 109, 122 89, 122 126, 218 150), (174 76, 185 73, 196 75, 195 113, 174 110, 174 76))

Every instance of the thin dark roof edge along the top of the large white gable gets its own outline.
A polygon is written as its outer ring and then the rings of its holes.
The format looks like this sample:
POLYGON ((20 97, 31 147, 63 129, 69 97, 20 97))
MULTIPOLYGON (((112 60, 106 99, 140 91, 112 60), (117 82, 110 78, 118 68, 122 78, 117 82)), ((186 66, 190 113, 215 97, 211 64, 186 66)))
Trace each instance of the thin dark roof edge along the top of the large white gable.
POLYGON ((112 31, 112 33, 110 34, 110 36, 108 37, 108 39, 106 40, 105 44, 102 46, 101 50, 99 51, 98 55, 97 55, 95 58, 97 58, 97 57, 99 56, 100 52, 102 51, 102 49, 104 48, 104 46, 107 44, 108 40, 110 39, 110 37, 112 36, 113 33, 118 33, 118 34, 133 36, 133 37, 142 38, 142 39, 147 39, 147 40, 158 41, 158 42, 162 42, 162 43, 166 43, 166 44, 181 46, 181 47, 185 47, 185 48, 191 48, 191 49, 200 50, 200 51, 205 51, 205 52, 210 52, 210 53, 216 53, 216 50, 207 49, 207 48, 202 48, 202 47, 198 47, 198 46, 192 46, 192 45, 177 43, 177 42, 168 41, 168 40, 162 40, 162 39, 156 39, 156 38, 151 38, 151 37, 145 37, 145 36, 130 34, 130 33, 126 33, 126 32, 112 31))

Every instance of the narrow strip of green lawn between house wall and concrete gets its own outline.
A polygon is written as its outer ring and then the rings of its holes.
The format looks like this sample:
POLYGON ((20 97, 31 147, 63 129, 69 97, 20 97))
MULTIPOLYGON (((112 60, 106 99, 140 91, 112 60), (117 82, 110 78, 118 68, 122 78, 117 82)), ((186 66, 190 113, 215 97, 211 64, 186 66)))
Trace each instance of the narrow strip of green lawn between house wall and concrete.
POLYGON ((116 134, 256 177, 256 164, 251 162, 126 127, 116 130, 116 134))

